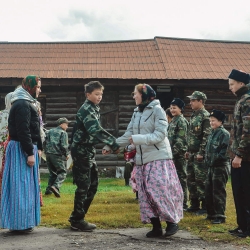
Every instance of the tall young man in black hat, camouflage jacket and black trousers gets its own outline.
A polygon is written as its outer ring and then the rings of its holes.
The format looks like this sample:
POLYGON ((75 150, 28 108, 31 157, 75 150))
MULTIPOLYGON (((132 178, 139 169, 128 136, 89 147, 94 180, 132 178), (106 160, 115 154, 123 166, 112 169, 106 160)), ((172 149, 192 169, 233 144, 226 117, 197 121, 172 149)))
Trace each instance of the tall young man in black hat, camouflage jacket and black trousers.
POLYGON ((238 227, 230 234, 250 236, 250 90, 249 74, 233 69, 229 89, 237 96, 230 133, 231 181, 238 227))

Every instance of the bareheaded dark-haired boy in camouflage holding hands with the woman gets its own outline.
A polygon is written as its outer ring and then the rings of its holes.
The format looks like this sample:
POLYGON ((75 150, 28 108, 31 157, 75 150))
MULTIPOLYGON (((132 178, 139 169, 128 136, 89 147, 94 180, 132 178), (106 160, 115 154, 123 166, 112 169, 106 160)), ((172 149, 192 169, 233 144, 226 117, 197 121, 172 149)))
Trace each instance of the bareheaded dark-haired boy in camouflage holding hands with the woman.
POLYGON ((103 85, 98 81, 91 81, 84 87, 87 99, 76 114, 76 131, 71 145, 73 182, 77 188, 69 222, 73 230, 92 231, 96 225, 84 219, 98 187, 94 146, 105 143, 115 153, 119 152, 120 146, 116 143, 116 138, 102 128, 99 122, 98 104, 102 100, 103 85))

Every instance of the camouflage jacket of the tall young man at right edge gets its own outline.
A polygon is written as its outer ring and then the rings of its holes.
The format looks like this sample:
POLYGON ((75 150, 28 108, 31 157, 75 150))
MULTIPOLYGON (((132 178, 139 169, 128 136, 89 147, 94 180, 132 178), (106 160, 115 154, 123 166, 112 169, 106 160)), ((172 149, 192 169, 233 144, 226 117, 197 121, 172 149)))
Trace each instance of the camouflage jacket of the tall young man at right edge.
POLYGON ((237 101, 231 124, 229 156, 242 157, 243 161, 250 161, 250 90, 247 86, 237 92, 237 101))

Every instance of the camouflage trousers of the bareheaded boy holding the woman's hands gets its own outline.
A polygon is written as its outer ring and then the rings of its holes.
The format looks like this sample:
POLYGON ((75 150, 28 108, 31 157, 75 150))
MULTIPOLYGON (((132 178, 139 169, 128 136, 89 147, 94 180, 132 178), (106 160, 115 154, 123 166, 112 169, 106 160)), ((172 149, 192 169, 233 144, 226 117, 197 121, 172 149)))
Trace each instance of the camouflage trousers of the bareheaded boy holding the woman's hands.
POLYGON ((72 223, 84 220, 91 202, 97 192, 98 174, 95 162, 95 148, 72 144, 73 183, 77 186, 74 199, 74 210, 69 221, 72 223))

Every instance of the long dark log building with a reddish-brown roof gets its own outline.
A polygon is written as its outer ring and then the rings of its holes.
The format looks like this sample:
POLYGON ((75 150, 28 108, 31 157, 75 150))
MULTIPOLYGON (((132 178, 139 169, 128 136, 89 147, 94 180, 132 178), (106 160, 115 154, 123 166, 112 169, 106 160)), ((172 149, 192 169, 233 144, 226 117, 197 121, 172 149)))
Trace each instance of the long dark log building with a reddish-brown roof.
MULTIPOLYGON (((162 107, 174 97, 186 102, 191 114, 193 91, 206 93, 206 109, 220 109, 232 118, 235 98, 228 89, 230 71, 250 72, 250 42, 155 37, 148 40, 108 42, 0 42, 0 109, 4 97, 28 74, 40 75, 43 120, 55 127, 59 117, 74 121, 85 100, 84 84, 99 80, 104 86, 101 123, 114 136, 122 135, 135 108, 131 92, 138 83, 156 91, 162 107)), ((69 127, 71 136, 73 123, 69 127)), ((124 166, 115 155, 103 157, 99 167, 124 166)))

